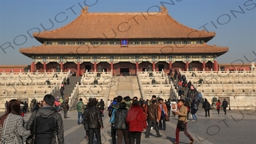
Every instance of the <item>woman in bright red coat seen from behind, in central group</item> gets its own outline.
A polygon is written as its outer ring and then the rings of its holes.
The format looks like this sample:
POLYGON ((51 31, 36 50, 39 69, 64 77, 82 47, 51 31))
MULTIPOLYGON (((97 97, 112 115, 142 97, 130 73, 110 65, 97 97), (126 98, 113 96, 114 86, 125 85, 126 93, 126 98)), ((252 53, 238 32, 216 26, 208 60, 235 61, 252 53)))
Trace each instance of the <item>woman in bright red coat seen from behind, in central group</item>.
POLYGON ((145 115, 143 114, 143 109, 141 109, 138 100, 132 101, 132 106, 128 111, 126 123, 129 125, 129 132, 131 136, 130 143, 134 144, 136 139, 136 144, 140 144, 141 132, 143 129, 147 129, 147 124, 145 115))

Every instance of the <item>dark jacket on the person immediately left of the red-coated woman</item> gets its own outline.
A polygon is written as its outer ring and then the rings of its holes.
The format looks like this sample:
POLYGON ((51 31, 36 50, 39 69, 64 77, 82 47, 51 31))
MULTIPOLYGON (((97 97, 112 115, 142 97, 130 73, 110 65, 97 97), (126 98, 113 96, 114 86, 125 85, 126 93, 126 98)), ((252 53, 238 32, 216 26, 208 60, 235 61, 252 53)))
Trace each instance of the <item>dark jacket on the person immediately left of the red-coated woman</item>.
POLYGON ((128 109, 126 108, 118 108, 115 112, 114 124, 115 129, 129 129, 126 124, 126 118, 128 114, 128 109))

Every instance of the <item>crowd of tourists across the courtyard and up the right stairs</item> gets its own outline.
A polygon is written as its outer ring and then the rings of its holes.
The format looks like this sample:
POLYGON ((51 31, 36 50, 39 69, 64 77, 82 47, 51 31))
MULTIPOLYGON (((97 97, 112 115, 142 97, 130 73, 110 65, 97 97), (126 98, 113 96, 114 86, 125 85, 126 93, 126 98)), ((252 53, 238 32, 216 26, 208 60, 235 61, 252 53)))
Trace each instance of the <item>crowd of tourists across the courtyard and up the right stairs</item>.
MULTIPOLYGON (((177 72, 177 71, 176 71, 177 72)), ((175 74, 174 72, 173 74, 175 74)), ((178 78, 177 90, 179 100, 157 99, 156 95, 152 95, 152 99, 143 100, 138 97, 118 95, 113 100, 105 102, 100 99, 89 99, 87 104, 83 103, 83 99, 79 99, 76 105, 77 124, 84 125, 86 131, 86 140, 89 144, 93 144, 93 138, 96 136, 97 143, 101 143, 100 129, 104 128, 102 117, 104 109, 108 109, 109 122, 111 123, 111 141, 113 144, 121 144, 123 139, 125 144, 140 144, 142 132, 145 131, 145 138, 150 138, 151 129, 156 131, 156 138, 161 138, 159 130, 166 131, 166 122, 170 120, 170 116, 178 116, 178 123, 175 130, 175 144, 179 143, 179 132, 183 131, 189 138, 189 143, 193 144, 194 139, 187 131, 187 122, 189 113, 191 113, 191 121, 197 120, 196 111, 202 103, 205 109, 205 116, 210 116, 209 109, 211 104, 207 99, 202 99, 202 94, 196 90, 191 82, 186 80, 186 76, 180 73, 175 74, 173 79, 178 78), (188 90, 187 90, 188 89, 188 90), (181 92, 180 92, 181 91, 181 92), (184 94, 186 93, 186 97, 184 94), (172 115, 171 115, 172 114, 172 115)), ((61 84, 64 86, 67 83, 61 84)), ((40 143, 64 143, 63 120, 61 118, 60 109, 63 110, 63 118, 67 118, 69 110, 67 95, 54 98, 52 95, 45 95, 44 100, 40 102, 31 101, 29 104, 31 116, 24 125, 24 113, 28 112, 28 104, 19 100, 6 101, 5 114, 0 116, 0 143, 23 143, 22 137, 28 136, 35 138, 36 144, 40 143)), ((228 103, 224 101, 216 102, 218 114, 220 109, 226 114, 228 103)))

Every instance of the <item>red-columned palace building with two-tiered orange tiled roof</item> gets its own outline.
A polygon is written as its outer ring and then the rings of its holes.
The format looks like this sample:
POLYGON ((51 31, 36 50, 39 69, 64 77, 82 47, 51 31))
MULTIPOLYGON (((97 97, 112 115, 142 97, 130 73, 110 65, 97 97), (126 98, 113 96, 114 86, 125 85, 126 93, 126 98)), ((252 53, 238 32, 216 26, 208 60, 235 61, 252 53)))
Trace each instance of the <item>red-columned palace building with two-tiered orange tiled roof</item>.
POLYGON ((31 58, 30 71, 63 72, 77 76, 102 67, 113 74, 145 71, 218 70, 217 57, 228 47, 207 45, 215 33, 188 28, 165 7, 160 12, 90 13, 88 7, 66 26, 33 33, 40 46, 20 49, 31 58))

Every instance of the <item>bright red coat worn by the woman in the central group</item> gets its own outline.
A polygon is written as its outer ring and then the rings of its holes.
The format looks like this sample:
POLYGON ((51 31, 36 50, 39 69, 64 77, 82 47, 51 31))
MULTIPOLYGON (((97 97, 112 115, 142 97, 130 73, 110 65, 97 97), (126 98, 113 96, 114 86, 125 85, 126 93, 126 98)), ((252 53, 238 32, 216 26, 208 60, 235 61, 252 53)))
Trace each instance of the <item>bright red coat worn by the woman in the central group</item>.
POLYGON ((130 132, 142 132, 147 129, 146 119, 140 105, 132 105, 128 111, 126 123, 130 132))

